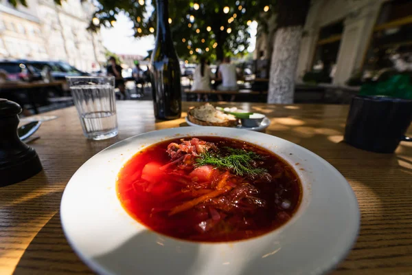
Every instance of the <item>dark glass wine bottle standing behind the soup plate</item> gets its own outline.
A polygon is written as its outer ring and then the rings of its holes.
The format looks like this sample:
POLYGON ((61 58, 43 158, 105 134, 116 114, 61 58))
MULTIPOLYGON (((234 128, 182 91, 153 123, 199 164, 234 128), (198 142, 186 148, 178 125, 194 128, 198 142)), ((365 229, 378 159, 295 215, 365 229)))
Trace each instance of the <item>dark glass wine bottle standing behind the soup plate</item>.
POLYGON ((169 27, 168 0, 157 0, 157 35, 152 53, 152 83, 155 117, 174 120, 181 117, 181 70, 169 27))

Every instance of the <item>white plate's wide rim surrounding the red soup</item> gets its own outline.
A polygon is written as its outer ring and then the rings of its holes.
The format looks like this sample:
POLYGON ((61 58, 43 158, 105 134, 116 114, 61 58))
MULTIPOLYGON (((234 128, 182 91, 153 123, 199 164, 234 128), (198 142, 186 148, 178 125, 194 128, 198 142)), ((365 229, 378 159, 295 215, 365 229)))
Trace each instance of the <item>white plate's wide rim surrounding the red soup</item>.
POLYGON ((71 177, 60 214, 71 247, 99 274, 323 274, 352 248, 360 220, 352 188, 324 159, 278 137, 225 127, 154 131, 106 148, 71 177), (130 217, 116 195, 120 168, 150 144, 194 135, 233 137, 283 157, 303 185, 293 218, 254 239, 194 243, 152 232, 130 217))

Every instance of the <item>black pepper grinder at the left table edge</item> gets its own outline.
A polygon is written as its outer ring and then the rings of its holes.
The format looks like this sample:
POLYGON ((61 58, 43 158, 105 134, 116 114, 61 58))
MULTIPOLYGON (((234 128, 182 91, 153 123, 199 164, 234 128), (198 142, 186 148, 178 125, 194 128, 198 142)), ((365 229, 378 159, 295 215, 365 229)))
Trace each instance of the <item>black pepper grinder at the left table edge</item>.
POLYGON ((17 135, 21 107, 0 98, 0 186, 28 179, 43 168, 36 151, 17 135))

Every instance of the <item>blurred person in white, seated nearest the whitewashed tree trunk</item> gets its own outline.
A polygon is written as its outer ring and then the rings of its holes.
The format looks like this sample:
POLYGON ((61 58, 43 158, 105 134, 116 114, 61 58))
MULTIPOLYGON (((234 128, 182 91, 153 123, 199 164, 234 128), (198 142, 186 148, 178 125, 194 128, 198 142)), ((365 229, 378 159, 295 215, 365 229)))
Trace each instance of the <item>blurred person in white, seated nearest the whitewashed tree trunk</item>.
MULTIPOLYGON (((238 91, 238 76, 236 74, 236 66, 230 63, 230 57, 223 58, 223 63, 219 66, 219 78, 222 79, 222 84, 218 85, 219 91, 238 91)), ((222 95, 218 95, 218 100, 222 101, 222 95)), ((230 101, 235 100, 235 95, 232 95, 230 101)))

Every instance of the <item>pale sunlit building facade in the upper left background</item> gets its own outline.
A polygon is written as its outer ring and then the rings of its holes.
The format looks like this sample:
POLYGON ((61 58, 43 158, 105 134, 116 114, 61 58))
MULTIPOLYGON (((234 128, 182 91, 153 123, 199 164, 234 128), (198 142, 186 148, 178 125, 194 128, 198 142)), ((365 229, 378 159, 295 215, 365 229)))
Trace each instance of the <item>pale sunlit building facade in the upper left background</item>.
POLYGON ((29 0, 27 8, 0 1, 0 58, 67 61, 91 72, 106 62, 102 37, 87 30, 91 1, 29 0))

